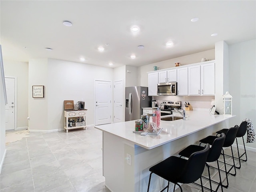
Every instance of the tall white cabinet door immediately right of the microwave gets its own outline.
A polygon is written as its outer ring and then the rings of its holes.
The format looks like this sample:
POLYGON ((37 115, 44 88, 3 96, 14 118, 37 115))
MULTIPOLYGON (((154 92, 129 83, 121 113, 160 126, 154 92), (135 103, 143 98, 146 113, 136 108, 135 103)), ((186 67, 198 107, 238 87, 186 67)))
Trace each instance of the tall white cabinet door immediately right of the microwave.
POLYGON ((188 68, 177 69, 178 95, 188 95, 188 68))

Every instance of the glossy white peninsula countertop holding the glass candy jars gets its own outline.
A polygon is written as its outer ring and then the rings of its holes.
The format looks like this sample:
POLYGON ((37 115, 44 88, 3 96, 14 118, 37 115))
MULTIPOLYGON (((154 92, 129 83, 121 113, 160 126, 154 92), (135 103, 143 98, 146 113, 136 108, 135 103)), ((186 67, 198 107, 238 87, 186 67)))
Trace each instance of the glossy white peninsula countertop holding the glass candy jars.
MULTIPOLYGON (((177 116, 177 115, 176 115, 177 116)), ((109 132, 124 140, 146 149, 156 148, 168 142, 177 140, 235 115, 212 115, 206 111, 186 111, 186 120, 160 121, 160 127, 163 128, 159 135, 141 136, 133 133, 135 122, 127 121, 113 124, 95 126, 95 128, 104 132, 109 132)))

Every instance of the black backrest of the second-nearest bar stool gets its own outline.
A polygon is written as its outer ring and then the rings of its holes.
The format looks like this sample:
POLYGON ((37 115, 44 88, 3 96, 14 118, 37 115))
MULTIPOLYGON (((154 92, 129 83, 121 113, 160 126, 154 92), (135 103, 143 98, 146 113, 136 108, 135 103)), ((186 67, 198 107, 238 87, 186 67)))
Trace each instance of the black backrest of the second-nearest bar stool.
POLYGON ((220 137, 214 139, 212 147, 210 148, 206 162, 214 162, 218 160, 221 154, 221 150, 225 141, 226 135, 220 134, 220 137))

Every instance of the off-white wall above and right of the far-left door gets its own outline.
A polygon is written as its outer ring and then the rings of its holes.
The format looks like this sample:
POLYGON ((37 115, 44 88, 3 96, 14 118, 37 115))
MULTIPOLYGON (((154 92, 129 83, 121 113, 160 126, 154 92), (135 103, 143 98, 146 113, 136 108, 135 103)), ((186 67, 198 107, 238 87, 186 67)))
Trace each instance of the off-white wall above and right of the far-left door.
POLYGON ((17 128, 28 127, 28 62, 4 60, 4 73, 17 78, 17 128))

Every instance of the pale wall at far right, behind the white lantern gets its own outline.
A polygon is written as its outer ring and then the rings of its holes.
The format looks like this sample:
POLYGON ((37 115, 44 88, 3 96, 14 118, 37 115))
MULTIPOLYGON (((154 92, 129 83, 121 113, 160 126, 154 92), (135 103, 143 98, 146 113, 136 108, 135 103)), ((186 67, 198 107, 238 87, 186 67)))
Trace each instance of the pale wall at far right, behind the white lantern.
MULTIPOLYGON (((236 115, 235 118, 230 120, 230 125, 239 125, 243 119, 250 118, 254 125, 254 130, 256 130, 255 53, 255 39, 229 46, 229 92, 233 96, 233 114, 236 115)), ((245 142, 246 135, 244 137, 245 142)), ((240 139, 238 140, 240 142, 240 139)), ((256 148, 256 142, 247 143, 246 146, 256 148)))

